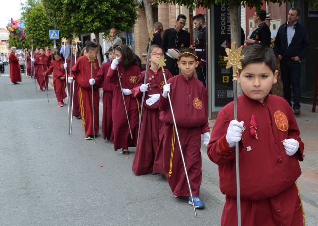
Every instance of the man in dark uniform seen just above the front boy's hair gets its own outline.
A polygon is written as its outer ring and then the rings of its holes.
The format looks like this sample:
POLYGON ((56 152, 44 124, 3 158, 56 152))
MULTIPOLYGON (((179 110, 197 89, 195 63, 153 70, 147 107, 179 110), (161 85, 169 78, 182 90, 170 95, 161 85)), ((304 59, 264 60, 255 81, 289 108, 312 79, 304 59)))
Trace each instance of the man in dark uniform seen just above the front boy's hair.
POLYGON ((265 23, 266 11, 261 9, 253 15, 254 22, 258 28, 253 31, 251 36, 246 39, 246 44, 261 44, 270 47, 270 29, 265 23))

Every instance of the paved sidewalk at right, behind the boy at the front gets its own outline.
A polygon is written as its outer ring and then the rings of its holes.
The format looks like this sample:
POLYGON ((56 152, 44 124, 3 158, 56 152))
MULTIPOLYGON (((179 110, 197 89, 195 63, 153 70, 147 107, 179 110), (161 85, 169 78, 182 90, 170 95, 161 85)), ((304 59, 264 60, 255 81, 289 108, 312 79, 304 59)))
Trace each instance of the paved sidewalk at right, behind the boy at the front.
MULTIPOLYGON (((301 114, 296 116, 300 136, 305 144, 304 161, 300 162, 302 175, 297 180, 305 202, 318 208, 318 106, 316 112, 312 112, 312 105, 302 104, 301 114)), ((209 120, 212 130, 215 120, 209 120)), ((207 152, 207 148, 201 145, 201 151, 207 152)))

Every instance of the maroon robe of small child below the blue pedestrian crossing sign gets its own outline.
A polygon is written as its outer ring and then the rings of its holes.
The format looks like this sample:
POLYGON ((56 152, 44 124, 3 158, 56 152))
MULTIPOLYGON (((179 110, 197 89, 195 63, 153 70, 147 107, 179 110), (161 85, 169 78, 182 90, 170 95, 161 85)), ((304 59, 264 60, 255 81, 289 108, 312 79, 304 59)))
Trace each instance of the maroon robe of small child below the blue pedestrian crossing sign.
POLYGON ((58 102, 63 102, 63 99, 66 98, 65 92, 65 79, 61 80, 61 77, 65 77, 65 69, 63 68, 64 61, 51 61, 49 69, 45 72, 45 75, 50 75, 53 71, 53 84, 54 92, 58 102))

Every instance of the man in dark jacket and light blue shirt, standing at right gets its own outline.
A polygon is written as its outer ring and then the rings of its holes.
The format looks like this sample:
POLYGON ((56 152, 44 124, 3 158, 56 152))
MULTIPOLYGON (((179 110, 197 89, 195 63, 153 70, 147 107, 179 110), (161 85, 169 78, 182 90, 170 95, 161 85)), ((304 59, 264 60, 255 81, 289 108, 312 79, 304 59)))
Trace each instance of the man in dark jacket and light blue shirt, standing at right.
POLYGON ((300 114, 300 75, 302 59, 309 51, 306 28, 297 22, 299 9, 291 8, 287 22, 277 31, 274 53, 280 60, 280 71, 284 86, 284 98, 291 103, 291 86, 293 90, 294 114, 300 114))

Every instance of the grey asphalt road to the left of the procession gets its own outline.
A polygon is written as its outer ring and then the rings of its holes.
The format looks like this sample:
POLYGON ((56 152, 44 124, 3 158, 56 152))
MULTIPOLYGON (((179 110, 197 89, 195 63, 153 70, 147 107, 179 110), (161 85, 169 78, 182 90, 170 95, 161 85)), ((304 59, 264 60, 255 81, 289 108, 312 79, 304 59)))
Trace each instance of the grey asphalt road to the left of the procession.
MULTIPOLYGON (((101 136, 86 141, 76 119, 69 136, 67 108, 57 107, 51 87, 48 94, 50 103, 32 79, 13 85, 0 74, 0 226, 220 225, 224 196, 204 149, 206 208, 196 219, 163 175, 133 174, 135 149, 125 157, 101 136)), ((305 208, 307 225, 318 225, 318 209, 305 208)))

